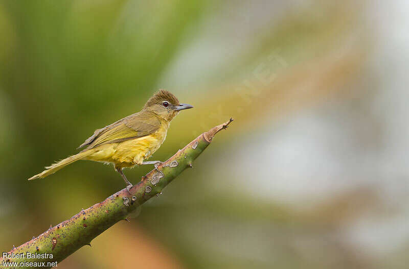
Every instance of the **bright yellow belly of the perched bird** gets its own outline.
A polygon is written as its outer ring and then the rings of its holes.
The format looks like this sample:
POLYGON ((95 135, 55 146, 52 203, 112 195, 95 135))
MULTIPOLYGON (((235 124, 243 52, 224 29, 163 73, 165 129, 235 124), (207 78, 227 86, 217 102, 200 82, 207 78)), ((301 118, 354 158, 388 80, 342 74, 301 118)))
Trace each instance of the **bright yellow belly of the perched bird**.
POLYGON ((113 163, 118 168, 140 165, 144 159, 152 156, 160 148, 165 138, 166 130, 119 143, 100 145, 97 148, 91 149, 92 153, 84 159, 113 163))

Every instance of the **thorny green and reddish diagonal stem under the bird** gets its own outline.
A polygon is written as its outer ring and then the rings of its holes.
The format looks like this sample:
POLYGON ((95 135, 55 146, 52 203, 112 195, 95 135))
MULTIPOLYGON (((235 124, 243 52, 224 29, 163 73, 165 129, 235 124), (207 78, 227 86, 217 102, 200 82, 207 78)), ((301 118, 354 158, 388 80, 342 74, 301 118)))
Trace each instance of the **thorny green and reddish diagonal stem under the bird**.
MULTIPOLYGON (((230 118, 226 123, 218 125, 208 132, 202 133, 185 148, 179 150, 167 161, 153 169, 144 176, 138 184, 129 189, 126 188, 112 194, 98 204, 90 208, 82 209, 78 214, 66 221, 52 227, 33 237, 30 241, 19 247, 14 247, 8 254, 31 253, 36 258, 27 259, 14 256, 3 259, 0 257, 0 267, 5 268, 5 262, 60 262, 72 253, 90 242, 99 234, 121 220, 127 220, 129 213, 140 205, 161 193, 168 185, 187 167, 192 167, 192 162, 207 148, 213 137, 223 129, 228 128, 233 121, 230 118), (52 257, 50 256, 52 254, 52 257)), ((24 268, 19 266, 18 268, 24 268)), ((50 268, 46 266, 42 268, 50 268)), ((13 268, 9 266, 7 268, 13 268)), ((16 267, 17 268, 17 267, 16 267)))

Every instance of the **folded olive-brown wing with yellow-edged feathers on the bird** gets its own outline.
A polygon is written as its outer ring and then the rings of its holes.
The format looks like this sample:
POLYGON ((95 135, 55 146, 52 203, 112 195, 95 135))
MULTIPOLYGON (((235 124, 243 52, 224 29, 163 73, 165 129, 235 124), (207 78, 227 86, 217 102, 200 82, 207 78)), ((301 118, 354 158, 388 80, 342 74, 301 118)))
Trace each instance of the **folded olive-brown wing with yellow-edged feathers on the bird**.
POLYGON ((117 143, 129 139, 143 137, 156 132, 161 122, 155 116, 148 117, 145 114, 135 113, 116 123, 98 129, 80 146, 89 145, 86 150, 95 148, 101 144, 117 143))

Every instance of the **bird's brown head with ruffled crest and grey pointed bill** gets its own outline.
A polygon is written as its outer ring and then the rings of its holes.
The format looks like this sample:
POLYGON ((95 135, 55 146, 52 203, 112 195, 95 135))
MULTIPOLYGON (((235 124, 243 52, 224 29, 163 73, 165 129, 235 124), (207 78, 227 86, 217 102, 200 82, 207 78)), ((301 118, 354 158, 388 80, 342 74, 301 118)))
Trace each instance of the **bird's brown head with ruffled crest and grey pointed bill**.
POLYGON ((193 108, 189 104, 179 103, 179 100, 167 90, 158 90, 144 106, 144 110, 154 112, 167 121, 171 121, 180 110, 193 108))

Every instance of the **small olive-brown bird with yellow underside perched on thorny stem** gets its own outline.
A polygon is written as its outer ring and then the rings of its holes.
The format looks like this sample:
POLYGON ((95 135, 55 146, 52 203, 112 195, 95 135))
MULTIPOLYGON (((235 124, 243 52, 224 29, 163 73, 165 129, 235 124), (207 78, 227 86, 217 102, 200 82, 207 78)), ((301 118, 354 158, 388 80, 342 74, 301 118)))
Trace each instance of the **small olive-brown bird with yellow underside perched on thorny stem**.
POLYGON ((129 190, 132 184, 126 179, 122 169, 141 164, 154 164, 155 167, 161 164, 161 161, 144 160, 165 141, 170 121, 180 110, 188 108, 193 107, 180 104, 169 91, 159 90, 149 98, 141 111, 96 130, 79 146, 86 146, 83 151, 46 167, 46 170, 29 180, 45 178, 78 160, 92 160, 113 163, 129 190))

